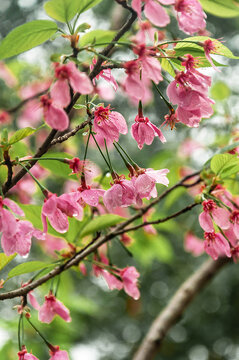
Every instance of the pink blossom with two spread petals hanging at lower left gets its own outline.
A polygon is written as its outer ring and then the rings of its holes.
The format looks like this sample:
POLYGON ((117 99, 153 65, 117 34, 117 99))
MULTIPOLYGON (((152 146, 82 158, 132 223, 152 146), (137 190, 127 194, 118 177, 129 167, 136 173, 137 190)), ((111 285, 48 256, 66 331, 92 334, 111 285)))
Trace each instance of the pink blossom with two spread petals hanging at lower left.
POLYGON ((49 294, 45 296, 45 302, 39 310, 38 318, 39 321, 50 324, 55 315, 59 315, 66 322, 71 321, 70 311, 61 301, 57 300, 50 291, 49 294))

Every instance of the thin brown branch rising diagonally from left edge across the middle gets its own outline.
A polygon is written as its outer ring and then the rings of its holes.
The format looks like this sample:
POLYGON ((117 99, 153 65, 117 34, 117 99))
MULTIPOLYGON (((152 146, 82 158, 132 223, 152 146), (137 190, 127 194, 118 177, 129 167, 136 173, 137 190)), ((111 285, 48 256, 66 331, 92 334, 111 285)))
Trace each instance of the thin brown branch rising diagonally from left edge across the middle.
MULTIPOLYGON (((184 182, 191 177, 194 177, 197 175, 197 173, 193 173, 191 175, 185 176, 181 181, 176 183, 171 188, 164 191, 157 199, 152 201, 149 205, 141 208, 137 214, 131 216, 129 219, 124 221, 123 223, 120 223, 118 226, 116 226, 114 229, 112 229, 107 235, 101 236, 100 238, 97 238, 96 241, 91 241, 90 244, 86 245, 85 248, 80 250, 78 253, 76 253, 70 260, 68 260, 65 264, 61 266, 57 266, 55 269, 50 271, 48 274, 44 275, 40 279, 30 283, 29 285, 25 286, 24 288, 19 288, 16 290, 8 291, 6 293, 0 294, 0 300, 5 299, 12 299, 18 296, 26 295, 29 291, 37 288, 38 286, 44 284, 48 280, 52 279, 56 275, 59 275, 63 271, 69 269, 72 266, 78 265, 80 261, 82 261, 86 256, 94 253, 101 245, 108 242, 109 240, 113 239, 115 236, 121 233, 121 231, 131 223, 133 223, 135 220, 139 219, 143 214, 145 214, 151 207, 159 203, 162 199, 164 199, 165 196, 167 196, 171 191, 178 188, 179 186, 184 186, 184 182)), ((193 185, 192 185, 193 186, 193 185)), ((180 215, 180 214, 179 214, 180 215)), ((164 221, 167 221, 167 218, 164 219, 164 221)), ((161 222, 163 222, 163 219, 161 219, 161 222)), ((124 230, 124 232, 128 231, 127 229, 124 230)))

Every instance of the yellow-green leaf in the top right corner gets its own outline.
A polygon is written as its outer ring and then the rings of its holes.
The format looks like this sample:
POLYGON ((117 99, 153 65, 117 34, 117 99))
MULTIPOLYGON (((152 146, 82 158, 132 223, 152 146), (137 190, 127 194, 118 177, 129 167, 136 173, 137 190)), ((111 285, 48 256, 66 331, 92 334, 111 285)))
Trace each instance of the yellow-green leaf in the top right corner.
POLYGON ((239 16, 239 8, 233 0, 199 0, 203 9, 209 14, 232 18, 239 16))

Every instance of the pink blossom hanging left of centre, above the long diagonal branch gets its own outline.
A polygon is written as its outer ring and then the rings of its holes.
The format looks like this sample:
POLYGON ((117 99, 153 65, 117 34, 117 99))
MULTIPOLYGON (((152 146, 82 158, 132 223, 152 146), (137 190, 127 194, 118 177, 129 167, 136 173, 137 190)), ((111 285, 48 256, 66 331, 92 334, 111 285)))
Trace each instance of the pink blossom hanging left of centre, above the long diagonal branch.
POLYGON ((59 197, 56 194, 47 193, 42 207, 43 231, 47 233, 48 218, 51 226, 59 233, 68 231, 69 222, 67 217, 77 217, 78 220, 83 218, 83 208, 77 202, 80 199, 78 192, 63 194, 59 197))

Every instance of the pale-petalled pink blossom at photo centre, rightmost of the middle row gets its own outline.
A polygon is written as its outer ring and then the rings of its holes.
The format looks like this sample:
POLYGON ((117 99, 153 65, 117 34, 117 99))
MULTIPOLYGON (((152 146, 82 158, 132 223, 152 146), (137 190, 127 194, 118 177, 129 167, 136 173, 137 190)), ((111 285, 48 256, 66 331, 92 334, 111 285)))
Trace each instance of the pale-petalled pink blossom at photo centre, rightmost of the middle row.
POLYGON ((135 169, 132 182, 135 187, 136 202, 138 206, 142 205, 143 198, 149 200, 150 198, 157 197, 156 184, 168 186, 168 173, 168 169, 135 169))

